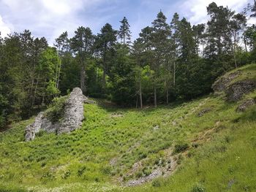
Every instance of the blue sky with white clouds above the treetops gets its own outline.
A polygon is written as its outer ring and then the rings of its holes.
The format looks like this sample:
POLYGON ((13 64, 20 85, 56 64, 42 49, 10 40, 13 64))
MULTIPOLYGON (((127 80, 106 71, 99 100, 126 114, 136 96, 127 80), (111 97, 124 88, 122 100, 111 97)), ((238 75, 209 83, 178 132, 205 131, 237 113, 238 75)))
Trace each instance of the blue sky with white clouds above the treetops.
MULTIPOLYGON (((34 37, 45 37, 50 45, 67 31, 72 37, 78 26, 99 33, 105 23, 118 29, 119 21, 127 17, 132 39, 140 30, 150 26, 162 10, 167 22, 178 12, 192 24, 206 23, 206 7, 214 0, 0 0, 1 37, 29 29, 34 37)), ((241 12, 253 0, 215 0, 241 12)), ((251 23, 255 20, 250 21, 251 23)))

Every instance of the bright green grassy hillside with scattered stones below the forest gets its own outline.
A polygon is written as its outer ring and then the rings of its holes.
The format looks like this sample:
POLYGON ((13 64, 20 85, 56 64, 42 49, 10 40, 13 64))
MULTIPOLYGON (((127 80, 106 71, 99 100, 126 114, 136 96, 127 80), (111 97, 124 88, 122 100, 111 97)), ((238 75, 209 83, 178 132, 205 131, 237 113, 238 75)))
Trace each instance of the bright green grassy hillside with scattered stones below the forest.
MULTIPOLYGON (((238 70, 227 87, 256 80, 255 64, 238 70)), ((256 91, 143 110, 99 100, 82 128, 31 142, 34 119, 15 123, 0 133, 0 191, 256 191, 256 107, 236 112, 247 98, 256 91)))

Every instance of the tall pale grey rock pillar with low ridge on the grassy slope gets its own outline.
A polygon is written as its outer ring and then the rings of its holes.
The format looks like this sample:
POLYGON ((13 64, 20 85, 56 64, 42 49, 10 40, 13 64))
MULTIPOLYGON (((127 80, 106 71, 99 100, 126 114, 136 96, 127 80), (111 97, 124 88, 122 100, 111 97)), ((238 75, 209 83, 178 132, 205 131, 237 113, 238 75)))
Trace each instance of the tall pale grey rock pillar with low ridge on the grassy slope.
POLYGON ((26 127, 26 141, 31 141, 36 137, 39 131, 47 131, 48 133, 56 132, 57 134, 69 133, 77 128, 80 128, 83 122, 83 103, 92 103, 80 88, 74 88, 70 93, 69 98, 65 102, 64 117, 61 121, 51 122, 45 112, 40 112, 37 115, 34 123, 26 127))

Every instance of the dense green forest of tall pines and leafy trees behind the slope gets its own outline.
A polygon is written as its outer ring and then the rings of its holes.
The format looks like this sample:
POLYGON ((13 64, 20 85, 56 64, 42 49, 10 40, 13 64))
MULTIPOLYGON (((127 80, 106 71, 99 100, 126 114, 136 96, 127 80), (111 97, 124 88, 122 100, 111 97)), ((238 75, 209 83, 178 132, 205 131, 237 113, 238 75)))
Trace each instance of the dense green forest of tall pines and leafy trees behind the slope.
POLYGON ((31 31, 0 36, 0 129, 30 118, 79 87, 122 107, 169 104, 211 93, 220 75, 256 62, 256 3, 237 13, 208 5, 208 22, 192 26, 162 11, 132 39, 129 21, 98 34, 80 26, 48 45, 31 31))

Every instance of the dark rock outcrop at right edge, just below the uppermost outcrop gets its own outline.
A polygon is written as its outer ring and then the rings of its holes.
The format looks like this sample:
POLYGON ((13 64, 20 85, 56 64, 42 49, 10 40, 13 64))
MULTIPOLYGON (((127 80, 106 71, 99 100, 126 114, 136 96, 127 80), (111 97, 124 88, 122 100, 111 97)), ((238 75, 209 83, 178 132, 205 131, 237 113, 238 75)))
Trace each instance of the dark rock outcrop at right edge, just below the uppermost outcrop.
POLYGON ((254 91, 256 82, 254 80, 238 81, 230 85, 225 93, 227 94, 227 101, 239 101, 245 93, 254 91))

